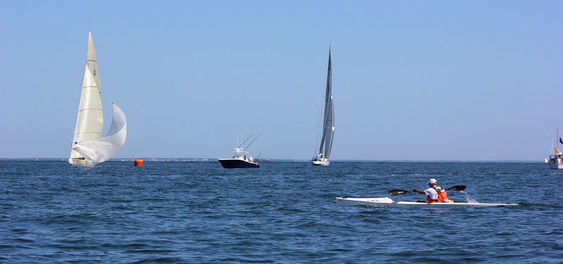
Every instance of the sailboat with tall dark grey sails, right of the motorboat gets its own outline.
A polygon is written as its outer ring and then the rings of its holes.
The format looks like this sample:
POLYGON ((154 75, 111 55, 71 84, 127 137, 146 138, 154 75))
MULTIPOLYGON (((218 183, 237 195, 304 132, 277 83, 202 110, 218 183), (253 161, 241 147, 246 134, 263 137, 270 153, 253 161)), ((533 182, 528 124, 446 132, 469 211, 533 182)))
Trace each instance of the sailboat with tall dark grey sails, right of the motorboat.
POLYGON ((329 69, 327 73, 327 94, 324 96, 324 120, 322 122, 322 138, 319 153, 312 158, 312 165, 329 165, 329 156, 334 137, 334 103, 332 101, 332 64, 329 47, 329 69))

